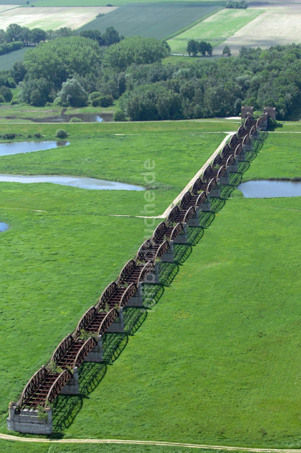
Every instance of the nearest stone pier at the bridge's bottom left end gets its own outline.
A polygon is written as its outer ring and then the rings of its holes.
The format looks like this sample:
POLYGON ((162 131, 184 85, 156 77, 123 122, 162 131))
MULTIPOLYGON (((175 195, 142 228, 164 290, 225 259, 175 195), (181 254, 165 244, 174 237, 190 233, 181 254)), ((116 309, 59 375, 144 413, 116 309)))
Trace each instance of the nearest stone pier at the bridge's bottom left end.
POLYGON ((46 420, 38 418, 38 411, 33 409, 17 410, 18 405, 11 402, 9 405, 9 416, 6 419, 9 431, 29 434, 53 434, 52 411, 47 407, 46 420))

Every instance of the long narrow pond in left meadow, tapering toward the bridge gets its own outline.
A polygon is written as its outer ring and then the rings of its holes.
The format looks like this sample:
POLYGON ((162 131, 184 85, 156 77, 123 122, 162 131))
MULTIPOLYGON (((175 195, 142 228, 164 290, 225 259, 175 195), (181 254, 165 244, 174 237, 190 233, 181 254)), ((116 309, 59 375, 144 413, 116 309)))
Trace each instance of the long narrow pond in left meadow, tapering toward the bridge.
POLYGON ((132 184, 116 183, 104 179, 82 178, 80 176, 38 175, 23 176, 19 174, 0 174, 0 182, 6 183, 54 183, 92 190, 145 190, 144 187, 132 184))

